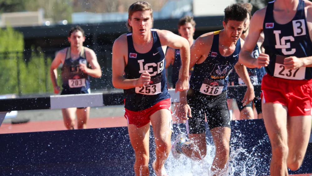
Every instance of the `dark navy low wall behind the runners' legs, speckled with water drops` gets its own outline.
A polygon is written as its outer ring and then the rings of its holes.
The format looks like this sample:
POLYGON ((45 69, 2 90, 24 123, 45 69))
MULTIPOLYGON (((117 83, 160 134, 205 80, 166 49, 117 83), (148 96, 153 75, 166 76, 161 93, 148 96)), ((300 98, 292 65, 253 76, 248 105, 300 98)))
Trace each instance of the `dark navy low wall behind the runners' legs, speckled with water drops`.
MULTIPOLYGON (((271 147, 263 120, 232 121, 231 125, 231 152, 246 149, 247 153, 256 156, 247 165, 255 166, 256 175, 269 175, 271 147)), ((172 140, 178 133, 176 129, 174 124, 172 140)), ((0 134, 0 141, 0 175, 134 175, 134 151, 127 127, 0 134)), ((212 143, 209 130, 207 142, 212 143)), ((154 149, 151 129, 151 173, 154 149)), ((303 165, 290 173, 312 173, 311 157, 310 143, 303 165)), ((246 160, 246 157, 239 159, 246 160)), ((236 173, 239 175, 239 171, 236 173)))

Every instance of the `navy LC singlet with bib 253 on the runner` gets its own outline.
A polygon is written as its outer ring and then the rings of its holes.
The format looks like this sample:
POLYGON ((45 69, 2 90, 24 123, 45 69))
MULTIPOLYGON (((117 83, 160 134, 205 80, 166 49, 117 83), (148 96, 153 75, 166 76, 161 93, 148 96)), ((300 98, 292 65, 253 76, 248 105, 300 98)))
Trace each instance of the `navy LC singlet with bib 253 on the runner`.
POLYGON ((144 87, 124 89, 125 108, 141 111, 170 98, 166 80, 166 60, 158 33, 151 29, 153 47, 147 53, 138 53, 134 49, 132 33, 127 34, 128 63, 124 68, 126 79, 140 78, 145 71, 151 74, 151 82, 144 87))

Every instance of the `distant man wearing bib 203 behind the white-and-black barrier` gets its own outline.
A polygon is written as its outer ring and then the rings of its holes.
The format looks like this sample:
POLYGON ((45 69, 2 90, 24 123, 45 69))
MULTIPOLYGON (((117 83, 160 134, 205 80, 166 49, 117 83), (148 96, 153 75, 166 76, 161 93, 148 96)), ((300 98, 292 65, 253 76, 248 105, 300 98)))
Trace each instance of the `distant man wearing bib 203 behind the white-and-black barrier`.
MULTIPOLYGON (((94 51, 84 47, 85 32, 80 26, 71 28, 68 33, 71 46, 59 51, 51 63, 50 76, 54 93, 60 92, 57 85, 57 68, 62 63, 62 92, 61 95, 90 93, 89 75, 100 78, 102 71, 97 62, 94 51)), ((67 129, 74 129, 75 113, 77 115, 78 129, 86 128, 89 119, 90 107, 62 109, 64 124, 67 129)))

